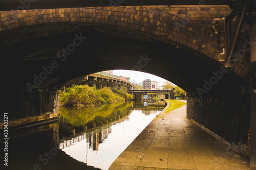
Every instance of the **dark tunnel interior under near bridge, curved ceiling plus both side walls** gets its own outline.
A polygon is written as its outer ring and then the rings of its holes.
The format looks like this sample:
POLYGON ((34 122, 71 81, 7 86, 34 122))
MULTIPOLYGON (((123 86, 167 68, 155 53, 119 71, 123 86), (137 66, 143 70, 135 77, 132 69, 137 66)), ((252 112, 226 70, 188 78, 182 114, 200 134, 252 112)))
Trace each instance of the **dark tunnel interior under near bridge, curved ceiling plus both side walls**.
POLYGON ((0 51, 5 54, 1 111, 10 119, 57 113, 58 90, 81 77, 103 70, 137 70, 187 91, 187 118, 247 154, 250 104, 243 89, 248 82, 177 41, 119 26, 57 22, 1 31, 0 51), (198 89, 205 87, 200 96, 198 89))

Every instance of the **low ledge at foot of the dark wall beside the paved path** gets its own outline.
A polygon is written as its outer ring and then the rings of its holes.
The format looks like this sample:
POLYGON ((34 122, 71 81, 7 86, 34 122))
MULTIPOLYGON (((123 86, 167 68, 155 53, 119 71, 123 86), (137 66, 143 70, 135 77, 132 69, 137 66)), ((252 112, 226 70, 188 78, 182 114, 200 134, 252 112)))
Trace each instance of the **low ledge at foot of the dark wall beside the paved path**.
POLYGON ((242 156, 246 156, 246 157, 250 157, 250 151, 248 150, 247 145, 245 144, 239 144, 236 145, 234 143, 229 143, 228 141, 226 141, 223 137, 215 134, 214 132, 212 132, 211 130, 209 130, 208 128, 204 127, 203 125, 199 124, 198 122, 196 122, 194 119, 191 118, 191 122, 194 123, 195 125, 197 125, 199 128, 201 128, 202 130, 204 130, 205 132, 209 133, 210 135, 214 136, 216 139, 218 139, 220 142, 228 145, 228 147, 230 149, 232 149, 234 152, 236 152, 239 155, 242 156))

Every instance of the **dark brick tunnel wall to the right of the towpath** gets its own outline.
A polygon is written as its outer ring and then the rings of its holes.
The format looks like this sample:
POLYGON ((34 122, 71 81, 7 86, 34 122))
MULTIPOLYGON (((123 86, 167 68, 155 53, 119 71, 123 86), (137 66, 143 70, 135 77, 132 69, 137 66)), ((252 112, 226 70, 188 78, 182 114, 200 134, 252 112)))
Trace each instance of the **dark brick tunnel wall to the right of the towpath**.
POLYGON ((240 155, 249 156, 250 100, 245 95, 188 96, 187 118, 240 155))

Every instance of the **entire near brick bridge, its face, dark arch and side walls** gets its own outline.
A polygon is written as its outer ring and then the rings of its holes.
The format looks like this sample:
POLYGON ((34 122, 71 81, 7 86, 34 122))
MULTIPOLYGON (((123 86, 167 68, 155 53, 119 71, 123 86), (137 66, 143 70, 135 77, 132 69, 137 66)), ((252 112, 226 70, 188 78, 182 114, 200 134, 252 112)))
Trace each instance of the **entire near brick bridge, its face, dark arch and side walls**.
POLYGON ((248 17, 230 64, 222 56, 225 35, 215 28, 232 11, 227 1, 41 10, 36 4, 0 11, 1 112, 12 119, 58 113, 58 90, 71 81, 110 69, 144 71, 186 90, 187 117, 248 154, 255 19, 248 17))

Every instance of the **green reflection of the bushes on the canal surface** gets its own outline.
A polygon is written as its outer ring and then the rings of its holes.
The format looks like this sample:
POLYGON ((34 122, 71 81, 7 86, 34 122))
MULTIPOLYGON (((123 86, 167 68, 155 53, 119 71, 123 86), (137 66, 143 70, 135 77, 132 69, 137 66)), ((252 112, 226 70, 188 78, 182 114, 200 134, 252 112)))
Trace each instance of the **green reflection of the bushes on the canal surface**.
POLYGON ((98 107, 61 107, 60 116, 65 118, 65 123, 75 127, 101 125, 112 120, 118 119, 119 116, 130 113, 131 102, 115 103, 101 105, 98 107))

